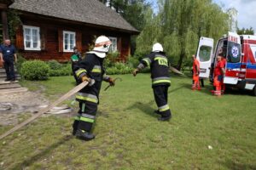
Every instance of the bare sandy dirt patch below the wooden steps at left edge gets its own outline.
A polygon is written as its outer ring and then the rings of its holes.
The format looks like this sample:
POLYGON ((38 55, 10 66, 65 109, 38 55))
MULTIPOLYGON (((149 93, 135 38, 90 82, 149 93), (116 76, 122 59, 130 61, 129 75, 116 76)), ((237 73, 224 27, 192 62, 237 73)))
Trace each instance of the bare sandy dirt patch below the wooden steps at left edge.
POLYGON ((49 105, 49 101, 38 92, 21 92, 0 95, 0 126, 17 123, 17 114, 36 112, 40 105, 49 105))

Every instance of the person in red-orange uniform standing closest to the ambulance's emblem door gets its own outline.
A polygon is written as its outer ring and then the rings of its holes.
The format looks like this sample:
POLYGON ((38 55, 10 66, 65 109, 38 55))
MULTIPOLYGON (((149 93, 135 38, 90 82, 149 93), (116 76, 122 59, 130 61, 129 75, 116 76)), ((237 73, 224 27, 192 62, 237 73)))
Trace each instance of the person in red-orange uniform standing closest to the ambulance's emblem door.
POLYGON ((214 95, 216 96, 221 95, 221 85, 222 85, 223 76, 224 76, 224 63, 221 59, 222 57, 218 55, 217 65, 214 68, 213 86, 215 88, 214 95))

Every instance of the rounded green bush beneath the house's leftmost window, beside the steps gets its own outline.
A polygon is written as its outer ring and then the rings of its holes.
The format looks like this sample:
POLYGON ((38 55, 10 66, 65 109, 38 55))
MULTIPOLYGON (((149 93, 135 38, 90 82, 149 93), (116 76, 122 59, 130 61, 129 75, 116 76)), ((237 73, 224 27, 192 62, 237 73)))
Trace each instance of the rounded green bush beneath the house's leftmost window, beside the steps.
POLYGON ((21 65, 20 73, 27 80, 46 80, 49 77, 49 65, 41 60, 26 61, 21 65))

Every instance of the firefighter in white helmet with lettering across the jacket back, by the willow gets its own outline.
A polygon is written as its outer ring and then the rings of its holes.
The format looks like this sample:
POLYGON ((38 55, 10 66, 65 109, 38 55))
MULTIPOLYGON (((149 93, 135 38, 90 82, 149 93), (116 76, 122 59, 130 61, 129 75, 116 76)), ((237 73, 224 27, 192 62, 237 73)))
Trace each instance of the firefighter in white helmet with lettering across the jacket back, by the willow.
POLYGON ((162 45, 155 43, 152 52, 142 59, 137 69, 132 71, 133 76, 136 76, 144 67, 150 67, 154 100, 158 106, 158 110, 155 112, 160 115, 159 121, 168 121, 172 117, 167 103, 168 88, 171 85, 168 65, 168 59, 163 52, 162 45))

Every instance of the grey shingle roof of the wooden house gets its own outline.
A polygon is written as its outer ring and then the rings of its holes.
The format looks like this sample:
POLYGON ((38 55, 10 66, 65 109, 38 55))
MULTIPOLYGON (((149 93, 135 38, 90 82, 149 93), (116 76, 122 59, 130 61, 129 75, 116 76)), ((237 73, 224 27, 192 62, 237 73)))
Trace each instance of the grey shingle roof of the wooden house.
POLYGON ((15 0, 9 8, 138 32, 123 17, 98 0, 15 0))

